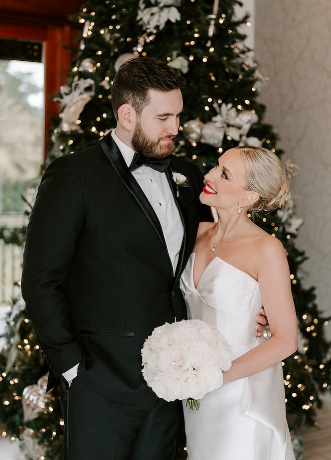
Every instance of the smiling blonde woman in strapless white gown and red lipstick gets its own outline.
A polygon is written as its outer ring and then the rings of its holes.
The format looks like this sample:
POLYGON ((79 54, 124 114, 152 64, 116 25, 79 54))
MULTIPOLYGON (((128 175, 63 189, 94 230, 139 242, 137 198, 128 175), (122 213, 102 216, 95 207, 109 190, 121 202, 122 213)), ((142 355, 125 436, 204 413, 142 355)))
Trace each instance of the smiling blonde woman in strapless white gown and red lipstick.
POLYGON ((184 404, 189 460, 295 460, 285 415, 281 361, 296 350, 290 273, 281 242, 247 215, 285 206, 285 169, 264 148, 227 150, 206 176, 202 203, 216 223, 200 224, 182 275, 189 318, 217 326, 232 366, 199 411, 184 404), (256 337, 264 306, 271 338, 256 337))

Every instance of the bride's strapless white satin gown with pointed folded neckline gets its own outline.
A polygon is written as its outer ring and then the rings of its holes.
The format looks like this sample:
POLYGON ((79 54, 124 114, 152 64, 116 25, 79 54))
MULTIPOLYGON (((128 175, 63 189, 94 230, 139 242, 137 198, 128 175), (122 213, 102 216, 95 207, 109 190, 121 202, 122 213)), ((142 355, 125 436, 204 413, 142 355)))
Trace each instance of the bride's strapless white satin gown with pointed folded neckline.
MULTIPOLYGON (((215 325, 234 360, 266 340, 256 338, 254 329, 262 306, 259 284, 215 257, 195 288, 194 259, 193 253, 181 278, 188 316, 215 325)), ((200 402, 199 411, 183 402, 188 460, 295 460, 281 363, 225 384, 200 402)))

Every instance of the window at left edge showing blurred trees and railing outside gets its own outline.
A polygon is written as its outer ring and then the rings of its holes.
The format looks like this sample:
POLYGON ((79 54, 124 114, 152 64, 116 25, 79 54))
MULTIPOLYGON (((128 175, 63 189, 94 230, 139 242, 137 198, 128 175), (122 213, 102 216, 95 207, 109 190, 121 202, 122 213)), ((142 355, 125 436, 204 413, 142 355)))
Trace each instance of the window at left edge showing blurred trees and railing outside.
MULTIPOLYGON (((42 44, 0 39, 0 228, 26 224, 40 180, 44 145, 42 44)), ((0 303, 21 276, 22 248, 0 240, 0 303), (18 279, 17 279, 18 278, 18 279)))

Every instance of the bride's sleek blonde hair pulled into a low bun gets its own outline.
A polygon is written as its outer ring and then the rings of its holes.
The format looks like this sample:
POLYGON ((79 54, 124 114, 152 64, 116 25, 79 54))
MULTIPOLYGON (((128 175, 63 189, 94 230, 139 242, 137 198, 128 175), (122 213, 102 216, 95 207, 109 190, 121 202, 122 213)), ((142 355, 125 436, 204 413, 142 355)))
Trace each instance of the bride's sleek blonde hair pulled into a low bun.
POLYGON ((273 211, 283 208, 291 194, 283 163, 267 148, 241 145, 238 148, 244 161, 245 188, 260 196, 249 211, 273 211))

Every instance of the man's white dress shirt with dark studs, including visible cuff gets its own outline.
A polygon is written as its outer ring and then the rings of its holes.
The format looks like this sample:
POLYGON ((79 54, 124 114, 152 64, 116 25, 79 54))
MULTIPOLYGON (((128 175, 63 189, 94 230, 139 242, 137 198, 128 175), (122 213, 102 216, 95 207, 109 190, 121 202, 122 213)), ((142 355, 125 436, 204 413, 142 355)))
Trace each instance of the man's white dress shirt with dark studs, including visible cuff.
MULTIPOLYGON (((111 136, 120 149, 126 165, 129 167, 133 159, 134 150, 116 136, 115 129, 111 132, 111 136)), ((173 265, 173 272, 175 273, 184 236, 184 226, 168 179, 164 173, 144 165, 132 171, 131 174, 146 195, 161 224, 169 257, 173 265)), ((77 376, 78 366, 79 363, 62 374, 67 381, 77 376)))

